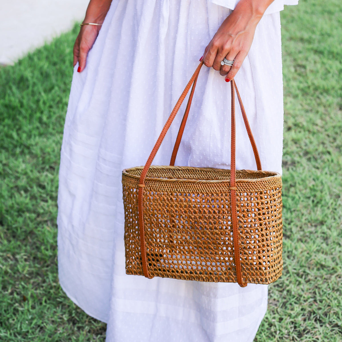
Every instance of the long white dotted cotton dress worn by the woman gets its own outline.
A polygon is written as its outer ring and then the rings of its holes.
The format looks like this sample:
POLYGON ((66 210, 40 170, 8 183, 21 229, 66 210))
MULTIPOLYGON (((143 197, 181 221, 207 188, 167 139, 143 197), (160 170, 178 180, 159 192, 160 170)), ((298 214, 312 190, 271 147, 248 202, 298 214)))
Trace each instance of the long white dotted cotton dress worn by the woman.
MULTIPOLYGON (((235 77, 263 170, 282 173, 283 93, 275 0, 235 77)), ((58 274, 107 323, 108 342, 250 342, 267 285, 126 275, 121 171, 144 165, 206 45, 237 1, 113 0, 74 77, 58 189, 58 274)), ((230 83, 202 66, 176 165, 230 168, 230 83)), ((186 101, 185 101, 186 102, 186 101)), ((186 103, 154 160, 168 165, 186 103)), ((256 170, 236 108, 236 167, 256 170)))

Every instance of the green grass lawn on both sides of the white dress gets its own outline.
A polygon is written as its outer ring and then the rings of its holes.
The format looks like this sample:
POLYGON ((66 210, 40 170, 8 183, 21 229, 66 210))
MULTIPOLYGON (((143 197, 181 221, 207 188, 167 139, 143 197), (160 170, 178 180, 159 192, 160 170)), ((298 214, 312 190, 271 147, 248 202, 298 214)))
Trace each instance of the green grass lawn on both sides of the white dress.
MULTIPOLYGON (((284 271, 255 341, 342 341, 342 2, 282 16, 284 271)), ((0 341, 104 341, 57 278, 60 147, 78 27, 0 69, 0 341)), ((227 341, 229 342, 229 341, 227 341)))

